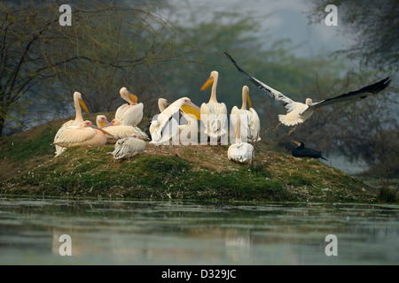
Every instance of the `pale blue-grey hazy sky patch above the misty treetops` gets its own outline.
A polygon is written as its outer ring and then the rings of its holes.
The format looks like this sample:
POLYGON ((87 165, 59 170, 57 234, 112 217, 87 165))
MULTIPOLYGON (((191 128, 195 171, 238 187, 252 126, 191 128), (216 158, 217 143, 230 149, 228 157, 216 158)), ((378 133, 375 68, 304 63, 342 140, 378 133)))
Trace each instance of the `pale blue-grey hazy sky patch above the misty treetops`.
MULTIPOLYGON (((350 44, 350 37, 339 33, 344 27, 327 27, 324 20, 319 24, 309 24, 307 17, 312 7, 308 0, 170 0, 176 5, 174 17, 186 19, 188 11, 198 11, 197 19, 210 20, 213 12, 239 11, 240 15, 252 17, 259 21, 259 36, 264 41, 275 42, 289 39, 294 46, 295 54, 311 57, 334 50, 341 50, 350 44), (208 12, 204 12, 208 11, 208 12)), ((325 11, 323 11, 325 12, 325 11)), ((325 16, 328 12, 325 12, 325 16)), ((340 17, 338 11, 338 19, 340 17)), ((223 20, 223 19, 221 19, 223 20)), ((187 23, 189 24, 189 23, 187 23)))

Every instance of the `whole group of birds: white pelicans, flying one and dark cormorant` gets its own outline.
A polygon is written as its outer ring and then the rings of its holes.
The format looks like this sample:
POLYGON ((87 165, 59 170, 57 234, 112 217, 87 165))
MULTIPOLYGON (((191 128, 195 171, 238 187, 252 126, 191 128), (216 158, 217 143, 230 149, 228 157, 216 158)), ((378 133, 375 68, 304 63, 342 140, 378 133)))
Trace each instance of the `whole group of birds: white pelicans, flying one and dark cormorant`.
MULTIPOLYGON (((318 111, 319 108, 333 103, 355 102, 367 96, 376 95, 387 88, 391 82, 389 78, 386 78, 364 88, 319 102, 313 102, 311 98, 306 98, 305 103, 295 102, 278 90, 246 73, 227 51, 224 54, 239 72, 244 73, 246 78, 254 83, 257 88, 262 89, 273 99, 283 103, 286 114, 278 115, 278 126, 293 127, 288 134, 291 134, 301 123, 310 119, 313 112, 318 111)), ((175 156, 178 157, 176 145, 197 144, 199 121, 202 123, 200 125, 204 126, 204 128, 200 128, 200 134, 206 134, 207 136, 205 145, 212 140, 216 140, 217 144, 222 144, 223 137, 227 134, 227 121, 229 118, 226 104, 217 101, 218 79, 219 73, 212 71, 203 83, 200 91, 212 88, 209 101, 201 103, 200 107, 192 103, 189 97, 185 96, 177 99, 174 103, 168 103, 167 99, 159 98, 158 109, 160 113, 151 119, 145 131, 142 131, 137 126, 144 116, 144 104, 137 103, 138 97, 129 91, 128 88, 120 88, 119 94, 126 103, 116 109, 114 119, 109 122, 105 115, 98 115, 96 118, 97 126, 92 125, 90 120, 83 120, 82 111, 87 114, 89 114, 89 111, 82 100, 82 94, 76 91, 74 92, 75 118, 60 126, 55 135, 52 143, 56 148, 55 156, 58 157, 65 149, 71 147, 101 146, 111 143, 114 144, 114 149, 113 152, 109 153, 113 155, 114 159, 128 159, 143 153, 148 142, 157 146, 161 155, 163 155, 161 146, 171 144, 175 156)), ((251 143, 261 140, 261 122, 253 108, 249 96, 249 88, 246 85, 241 89, 241 106, 240 108, 239 106, 232 107, 230 119, 230 130, 232 131, 234 128, 234 134, 231 145, 227 150, 227 158, 239 164, 252 163, 254 146, 251 143)), ((275 128, 276 130, 278 126, 275 128)), ((293 157, 325 159, 320 151, 305 148, 303 142, 295 143, 298 148, 293 149, 293 157)), ((213 142, 210 142, 210 144, 213 144, 213 142)))

